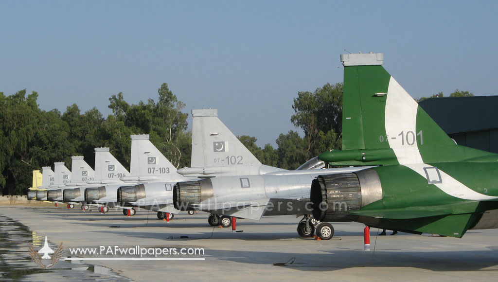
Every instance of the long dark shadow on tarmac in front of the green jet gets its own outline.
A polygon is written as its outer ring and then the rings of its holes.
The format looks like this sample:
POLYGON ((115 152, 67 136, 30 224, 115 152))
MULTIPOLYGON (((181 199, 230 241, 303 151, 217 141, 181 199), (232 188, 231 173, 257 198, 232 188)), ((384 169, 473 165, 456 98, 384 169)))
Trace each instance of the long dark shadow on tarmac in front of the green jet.
MULTIPOLYGON (((325 247, 327 248, 327 247, 325 247)), ((400 252, 377 250, 334 250, 329 254, 292 254, 278 252, 209 250, 209 255, 218 260, 244 264, 266 265, 295 261, 284 267, 300 271, 333 271, 348 268, 417 268, 434 272, 498 271, 498 253, 490 247, 487 251, 462 252, 400 252), (493 269, 487 269, 494 267, 493 269)))

